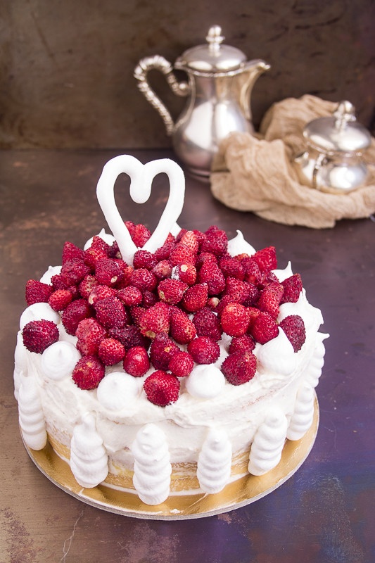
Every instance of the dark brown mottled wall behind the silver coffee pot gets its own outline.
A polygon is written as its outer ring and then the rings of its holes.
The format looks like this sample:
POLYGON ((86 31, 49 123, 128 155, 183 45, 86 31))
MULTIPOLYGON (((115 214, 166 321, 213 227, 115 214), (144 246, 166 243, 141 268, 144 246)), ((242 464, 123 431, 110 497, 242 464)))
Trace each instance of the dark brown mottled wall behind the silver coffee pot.
MULTIPOLYGON (((272 69, 255 84, 255 125, 275 101, 305 93, 348 99, 373 131, 373 0, 3 0, 0 147, 167 147, 133 70, 174 61, 222 26, 228 44, 272 69)), ((172 112, 182 104, 153 84, 172 112)))

